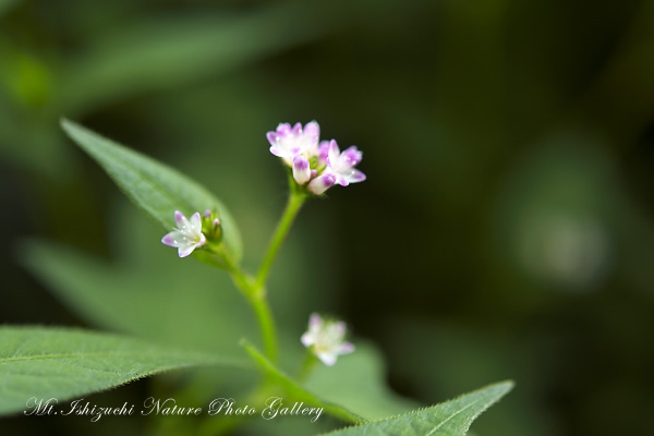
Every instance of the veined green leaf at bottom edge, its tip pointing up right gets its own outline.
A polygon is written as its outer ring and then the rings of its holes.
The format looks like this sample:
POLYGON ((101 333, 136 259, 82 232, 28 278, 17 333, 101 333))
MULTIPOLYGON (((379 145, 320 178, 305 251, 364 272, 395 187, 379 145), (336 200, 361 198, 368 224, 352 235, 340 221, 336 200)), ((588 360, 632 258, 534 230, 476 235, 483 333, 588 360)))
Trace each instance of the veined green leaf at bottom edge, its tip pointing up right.
POLYGON ((470 424, 513 387, 498 383, 455 400, 400 416, 328 433, 330 436, 463 436, 470 424))

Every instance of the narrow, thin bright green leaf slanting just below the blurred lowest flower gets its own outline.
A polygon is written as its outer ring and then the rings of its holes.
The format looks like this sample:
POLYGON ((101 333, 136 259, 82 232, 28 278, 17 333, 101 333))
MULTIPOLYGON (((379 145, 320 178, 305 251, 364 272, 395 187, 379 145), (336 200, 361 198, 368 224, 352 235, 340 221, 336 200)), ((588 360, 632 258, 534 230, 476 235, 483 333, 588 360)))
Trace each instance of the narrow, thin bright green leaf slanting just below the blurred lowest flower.
POLYGON ((291 377, 286 375, 283 372, 278 370, 270 361, 268 361, 257 349, 255 349, 247 341, 243 341, 243 347, 245 351, 250 354, 250 356, 254 360, 257 366, 267 374, 272 380, 278 383, 288 396, 292 397, 298 401, 304 401, 307 404, 324 408, 325 412, 341 419, 343 421, 352 422, 352 423, 365 423, 366 420, 355 415, 349 410, 341 408, 340 405, 323 401, 314 393, 307 391, 303 387, 301 387, 296 382, 294 382, 291 377))

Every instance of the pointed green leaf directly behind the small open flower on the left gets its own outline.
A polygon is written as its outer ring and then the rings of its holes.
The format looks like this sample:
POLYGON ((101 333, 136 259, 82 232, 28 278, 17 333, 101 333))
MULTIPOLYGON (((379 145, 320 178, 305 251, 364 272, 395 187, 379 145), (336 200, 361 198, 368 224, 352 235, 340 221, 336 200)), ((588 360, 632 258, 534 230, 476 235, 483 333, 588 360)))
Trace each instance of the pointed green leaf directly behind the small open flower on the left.
POLYGON ((231 256, 235 259, 241 258, 241 234, 235 221, 225 205, 205 187, 177 170, 72 121, 63 120, 61 125, 69 136, 107 171, 118 186, 165 229, 170 230, 174 227, 175 210, 186 216, 195 211, 202 214, 206 209, 216 210, 231 256))

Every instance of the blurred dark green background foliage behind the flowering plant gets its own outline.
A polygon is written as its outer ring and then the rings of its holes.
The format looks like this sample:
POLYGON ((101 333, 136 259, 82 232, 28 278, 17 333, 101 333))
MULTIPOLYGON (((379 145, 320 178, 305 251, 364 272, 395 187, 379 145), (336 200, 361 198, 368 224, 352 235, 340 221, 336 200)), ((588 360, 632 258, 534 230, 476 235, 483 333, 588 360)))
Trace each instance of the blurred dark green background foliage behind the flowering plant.
MULTIPOLYGON (((286 198, 265 133, 315 119, 364 150, 368 180, 311 202, 287 241, 270 293, 289 337, 312 311, 343 317, 423 404, 514 379, 477 435, 645 434, 652 23, 651 0, 0 0, 0 322, 208 349, 256 337, 229 280, 162 246, 58 120, 208 186, 254 266, 286 198), (226 313, 205 304, 216 287, 226 313)), ((122 403, 157 383, 93 398, 122 403)))

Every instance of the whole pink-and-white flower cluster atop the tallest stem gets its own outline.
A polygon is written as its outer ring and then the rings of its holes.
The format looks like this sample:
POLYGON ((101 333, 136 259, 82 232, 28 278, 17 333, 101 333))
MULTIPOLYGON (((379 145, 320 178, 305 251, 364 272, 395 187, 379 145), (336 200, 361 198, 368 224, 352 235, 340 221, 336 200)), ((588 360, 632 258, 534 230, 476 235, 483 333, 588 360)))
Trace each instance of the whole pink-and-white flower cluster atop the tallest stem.
POLYGON ((293 179, 306 185, 316 195, 323 194, 335 184, 347 186, 363 182, 365 174, 356 169, 362 153, 351 146, 341 153, 335 140, 319 141, 320 128, 312 121, 302 128, 296 123, 281 123, 266 137, 270 153, 280 157, 293 170, 293 179))

